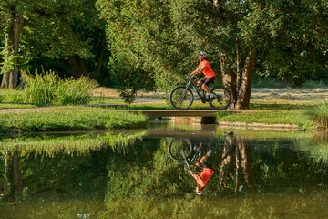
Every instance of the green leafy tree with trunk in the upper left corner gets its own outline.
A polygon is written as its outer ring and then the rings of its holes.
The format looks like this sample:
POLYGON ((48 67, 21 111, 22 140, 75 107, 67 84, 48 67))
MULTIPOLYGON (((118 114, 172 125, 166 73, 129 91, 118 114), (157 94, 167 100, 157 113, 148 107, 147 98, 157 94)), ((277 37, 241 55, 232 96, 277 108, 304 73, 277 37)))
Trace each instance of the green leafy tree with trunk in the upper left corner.
POLYGON ((76 77, 99 76, 107 43, 95 1, 5 0, 0 16, 5 18, 1 87, 14 88, 18 68, 40 57, 60 59, 76 77))

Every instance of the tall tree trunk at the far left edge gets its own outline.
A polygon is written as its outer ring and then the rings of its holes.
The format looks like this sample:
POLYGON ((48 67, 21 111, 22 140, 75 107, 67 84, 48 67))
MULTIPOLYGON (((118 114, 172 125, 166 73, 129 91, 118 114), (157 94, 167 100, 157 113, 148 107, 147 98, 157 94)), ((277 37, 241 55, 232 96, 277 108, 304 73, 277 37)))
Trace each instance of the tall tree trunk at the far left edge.
POLYGON ((5 58, 1 88, 15 88, 18 78, 19 36, 24 24, 23 15, 14 15, 14 23, 5 33, 5 58))

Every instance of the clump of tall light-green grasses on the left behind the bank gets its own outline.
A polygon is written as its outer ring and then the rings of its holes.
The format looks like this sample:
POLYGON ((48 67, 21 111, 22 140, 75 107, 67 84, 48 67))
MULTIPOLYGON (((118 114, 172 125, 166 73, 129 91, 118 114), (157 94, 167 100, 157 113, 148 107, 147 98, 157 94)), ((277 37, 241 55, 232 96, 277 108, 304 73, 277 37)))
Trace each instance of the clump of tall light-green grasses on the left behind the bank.
POLYGON ((89 78, 61 79, 53 72, 35 76, 25 74, 23 98, 27 103, 85 104, 97 83, 89 78))

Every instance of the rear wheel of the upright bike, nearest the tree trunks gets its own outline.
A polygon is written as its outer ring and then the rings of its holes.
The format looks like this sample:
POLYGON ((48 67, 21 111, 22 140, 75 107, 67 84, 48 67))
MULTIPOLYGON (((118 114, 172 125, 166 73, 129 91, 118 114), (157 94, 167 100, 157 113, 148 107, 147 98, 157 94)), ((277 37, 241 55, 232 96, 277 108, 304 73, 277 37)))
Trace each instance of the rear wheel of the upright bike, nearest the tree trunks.
POLYGON ((222 86, 214 87, 210 90, 214 99, 210 102, 210 107, 214 110, 226 110, 231 104, 231 91, 222 86))

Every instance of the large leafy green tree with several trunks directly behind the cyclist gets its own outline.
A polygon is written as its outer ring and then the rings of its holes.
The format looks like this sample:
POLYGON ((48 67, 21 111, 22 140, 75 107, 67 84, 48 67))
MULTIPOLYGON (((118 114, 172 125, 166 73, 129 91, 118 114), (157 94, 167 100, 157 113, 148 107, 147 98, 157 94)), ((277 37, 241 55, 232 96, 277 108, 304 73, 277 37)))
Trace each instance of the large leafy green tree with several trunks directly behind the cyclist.
POLYGON ((97 0, 97 6, 114 56, 164 91, 196 68, 200 50, 210 53, 231 89, 231 109, 249 108, 254 72, 292 78, 297 86, 310 69, 327 64, 323 0, 97 0))

